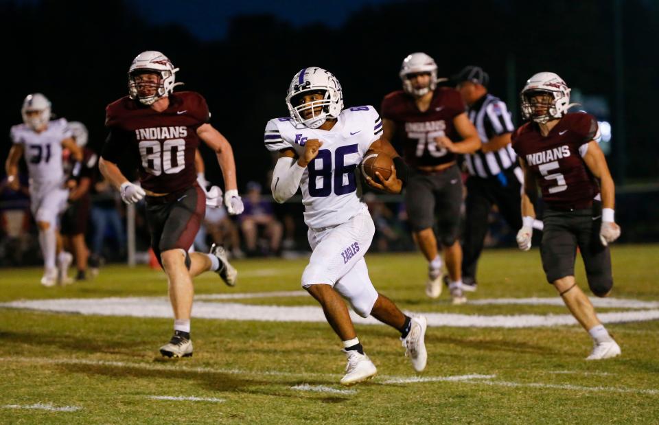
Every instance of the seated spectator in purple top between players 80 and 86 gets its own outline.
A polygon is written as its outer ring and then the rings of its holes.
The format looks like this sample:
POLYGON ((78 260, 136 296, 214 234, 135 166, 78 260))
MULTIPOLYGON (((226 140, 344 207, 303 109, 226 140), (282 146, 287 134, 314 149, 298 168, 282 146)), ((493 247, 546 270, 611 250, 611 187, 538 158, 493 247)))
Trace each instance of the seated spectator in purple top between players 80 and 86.
POLYGON ((245 210, 240 216, 240 229, 245 239, 248 255, 257 255, 259 228, 268 240, 266 255, 279 253, 283 226, 273 214, 273 205, 261 196, 261 185, 255 181, 247 183, 247 196, 244 199, 245 210))

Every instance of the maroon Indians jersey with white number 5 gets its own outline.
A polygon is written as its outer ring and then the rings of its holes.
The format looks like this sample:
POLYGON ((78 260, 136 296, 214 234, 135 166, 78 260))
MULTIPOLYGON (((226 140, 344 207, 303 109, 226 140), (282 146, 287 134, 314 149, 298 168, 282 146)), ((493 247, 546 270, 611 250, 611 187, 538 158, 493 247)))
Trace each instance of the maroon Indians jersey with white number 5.
POLYGON ((549 207, 586 208, 599 194, 599 185, 583 161, 587 143, 599 137, 597 120, 588 113, 568 113, 546 137, 533 122, 512 135, 515 152, 535 173, 549 207))

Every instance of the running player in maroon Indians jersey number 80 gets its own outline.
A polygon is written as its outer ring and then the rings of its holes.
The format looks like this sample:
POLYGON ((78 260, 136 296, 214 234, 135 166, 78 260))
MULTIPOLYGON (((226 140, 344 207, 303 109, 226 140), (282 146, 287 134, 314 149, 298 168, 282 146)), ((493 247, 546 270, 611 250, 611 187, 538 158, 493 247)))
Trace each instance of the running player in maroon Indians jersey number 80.
POLYGON ((194 91, 173 93, 172 62, 159 51, 139 54, 128 71, 128 96, 106 108, 108 139, 99 169, 122 193, 125 203, 146 196, 146 218, 151 247, 167 274, 174 310, 174 336, 160 352, 167 357, 192 356, 190 312, 194 287, 192 277, 216 271, 229 286, 238 272, 220 246, 211 253, 188 253, 203 220, 206 205, 222 200, 218 187, 200 187, 194 156, 199 139, 218 157, 224 184, 224 204, 229 214, 242 212, 235 178, 233 150, 227 139, 209 124, 206 100, 194 91), (139 164, 141 186, 130 183, 119 169, 124 159, 139 164))

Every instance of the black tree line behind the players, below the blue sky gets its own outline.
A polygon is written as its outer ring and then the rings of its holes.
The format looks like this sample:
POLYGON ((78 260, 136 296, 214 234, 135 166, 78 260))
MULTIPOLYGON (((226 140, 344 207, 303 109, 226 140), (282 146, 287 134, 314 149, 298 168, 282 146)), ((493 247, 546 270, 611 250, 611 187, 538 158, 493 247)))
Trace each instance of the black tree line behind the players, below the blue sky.
MULTIPOLYGON (((614 1, 391 3, 363 8, 336 30, 322 23, 294 27, 275 16, 253 14, 233 19, 227 37, 212 42, 198 41, 178 25, 151 25, 129 2, 2 1, 0 36, 9 77, 0 127, 8 133, 21 122, 23 97, 41 91, 53 102, 54 113, 84 122, 90 146, 100 150, 104 108, 126 95, 132 58, 143 50, 160 50, 181 68, 181 89, 207 98, 213 125, 235 150, 244 189, 247 181, 266 179, 272 160, 262 146, 264 126, 272 117, 288 115, 286 89, 302 67, 334 72, 347 106, 379 108, 386 93, 400 88, 404 56, 425 51, 437 61, 440 76, 480 65, 490 74, 492 93, 504 100, 514 102, 511 97, 533 73, 555 71, 570 87, 603 95, 618 108, 614 1)), ((659 91, 659 56, 651 49, 659 45, 659 5, 625 1, 621 13, 627 164, 613 172, 616 178, 649 180, 656 178, 659 165, 648 95, 659 91)), ((519 111, 513 111, 513 119, 520 124, 519 111)), ((613 146, 612 154, 619 154, 615 141, 613 146)), ((3 158, 9 147, 2 146, 3 158)), ((218 181, 211 152, 203 154, 207 175, 218 181)))

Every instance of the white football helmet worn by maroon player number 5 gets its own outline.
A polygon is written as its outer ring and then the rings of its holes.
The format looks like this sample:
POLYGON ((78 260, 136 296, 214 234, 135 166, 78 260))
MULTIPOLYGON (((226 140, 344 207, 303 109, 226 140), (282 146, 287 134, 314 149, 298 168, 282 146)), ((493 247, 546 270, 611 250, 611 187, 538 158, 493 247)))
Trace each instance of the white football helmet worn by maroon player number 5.
POLYGON ((553 72, 539 72, 527 80, 524 89, 520 93, 522 104, 522 117, 532 119, 534 122, 544 124, 550 119, 557 119, 568 112, 568 109, 576 103, 570 103, 570 87, 562 78, 553 72), (538 105, 531 102, 531 98, 537 93, 548 93, 552 100, 546 105, 538 105), (542 106, 545 113, 537 115, 536 106, 542 106))

